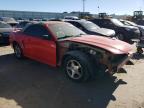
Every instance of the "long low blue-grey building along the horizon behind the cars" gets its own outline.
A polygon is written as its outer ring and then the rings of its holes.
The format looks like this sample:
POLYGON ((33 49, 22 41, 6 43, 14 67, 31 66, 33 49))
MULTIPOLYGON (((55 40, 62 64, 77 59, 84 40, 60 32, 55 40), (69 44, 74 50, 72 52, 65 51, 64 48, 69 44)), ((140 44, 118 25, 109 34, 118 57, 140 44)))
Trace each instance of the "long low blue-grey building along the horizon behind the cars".
MULTIPOLYGON (((12 11, 12 10, 0 10, 0 17, 13 17, 15 19, 51 19, 51 18, 64 18, 65 16, 77 16, 83 18, 83 16, 92 16, 98 18, 97 14, 90 14, 89 12, 32 12, 32 11, 12 11)), ((114 18, 125 18, 127 15, 111 15, 114 18)))

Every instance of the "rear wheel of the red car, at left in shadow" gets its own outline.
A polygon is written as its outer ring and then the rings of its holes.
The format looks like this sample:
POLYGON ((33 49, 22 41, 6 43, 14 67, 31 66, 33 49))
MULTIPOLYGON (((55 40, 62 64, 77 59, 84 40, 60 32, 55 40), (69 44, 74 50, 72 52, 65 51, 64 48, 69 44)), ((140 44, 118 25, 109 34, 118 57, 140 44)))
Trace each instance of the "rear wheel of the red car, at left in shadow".
POLYGON ((23 52, 22 52, 22 49, 21 49, 20 45, 15 44, 13 46, 13 48, 14 48, 15 57, 18 58, 18 59, 22 59, 23 58, 23 52))

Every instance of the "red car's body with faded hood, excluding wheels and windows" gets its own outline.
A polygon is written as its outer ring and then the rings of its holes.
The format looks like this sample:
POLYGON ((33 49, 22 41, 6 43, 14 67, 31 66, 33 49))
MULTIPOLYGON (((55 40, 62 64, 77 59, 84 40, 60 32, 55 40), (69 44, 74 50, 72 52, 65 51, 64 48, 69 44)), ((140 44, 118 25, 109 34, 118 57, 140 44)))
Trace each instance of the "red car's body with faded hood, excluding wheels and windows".
POLYGON ((109 72, 118 70, 132 57, 132 46, 117 39, 95 35, 58 39, 57 33, 50 28, 55 24, 72 26, 66 22, 48 21, 41 25, 51 35, 50 40, 36 38, 23 31, 17 31, 10 35, 11 45, 18 44, 24 56, 54 67, 60 66, 67 52, 71 50, 79 50, 93 56, 98 54, 96 59, 99 60, 99 63, 107 66, 109 72), (114 58, 117 60, 113 60, 114 58))

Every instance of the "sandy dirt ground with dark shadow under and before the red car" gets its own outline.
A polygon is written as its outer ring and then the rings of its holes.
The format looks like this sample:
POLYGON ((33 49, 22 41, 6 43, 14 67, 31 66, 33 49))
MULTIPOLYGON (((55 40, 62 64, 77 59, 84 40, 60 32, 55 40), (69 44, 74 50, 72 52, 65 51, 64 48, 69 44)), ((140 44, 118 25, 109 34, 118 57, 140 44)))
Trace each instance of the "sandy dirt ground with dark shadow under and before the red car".
POLYGON ((0 108, 144 108, 144 56, 132 62, 112 78, 73 83, 59 69, 0 47, 0 108))

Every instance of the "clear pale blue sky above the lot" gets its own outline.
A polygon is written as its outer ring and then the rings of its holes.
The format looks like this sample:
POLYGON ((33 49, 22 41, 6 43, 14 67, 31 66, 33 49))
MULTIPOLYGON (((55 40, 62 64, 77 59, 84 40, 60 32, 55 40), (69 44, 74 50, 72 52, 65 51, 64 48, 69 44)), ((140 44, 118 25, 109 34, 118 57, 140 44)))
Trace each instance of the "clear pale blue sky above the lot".
MULTIPOLYGON (((83 11, 82 0, 1 0, 0 10, 72 12, 83 11)), ((92 14, 132 15, 144 11, 144 0, 85 0, 85 11, 92 14), (99 7, 99 8, 98 8, 99 7)))

